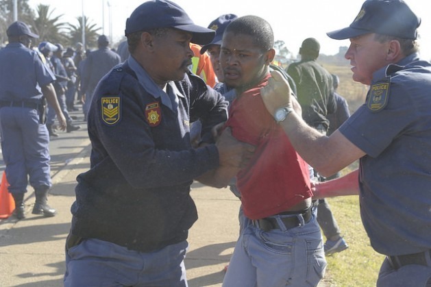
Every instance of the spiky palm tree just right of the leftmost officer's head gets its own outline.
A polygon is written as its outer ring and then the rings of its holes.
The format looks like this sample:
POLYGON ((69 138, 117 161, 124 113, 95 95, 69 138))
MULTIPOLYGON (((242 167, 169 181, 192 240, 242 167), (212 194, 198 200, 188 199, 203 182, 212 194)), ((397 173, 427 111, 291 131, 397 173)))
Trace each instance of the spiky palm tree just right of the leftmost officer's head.
POLYGON ((49 41, 53 44, 69 44, 69 36, 62 32, 66 28, 66 23, 59 22, 63 15, 51 18, 54 11, 55 9, 49 11, 49 5, 38 5, 36 9, 38 16, 34 21, 34 32, 39 35, 40 42, 49 41))

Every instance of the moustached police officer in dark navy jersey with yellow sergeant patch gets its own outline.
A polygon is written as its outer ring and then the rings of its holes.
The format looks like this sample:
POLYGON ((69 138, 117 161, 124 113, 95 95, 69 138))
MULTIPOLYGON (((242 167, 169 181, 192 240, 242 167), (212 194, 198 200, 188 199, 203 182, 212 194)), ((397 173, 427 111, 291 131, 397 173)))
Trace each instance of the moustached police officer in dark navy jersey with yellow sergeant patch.
POLYGON ((253 149, 228 130, 214 144, 227 101, 188 72, 190 42, 207 44, 212 30, 153 0, 132 12, 125 34, 131 55, 101 79, 88 112, 91 166, 77 177, 64 286, 187 286, 190 184, 218 166, 233 177, 253 149))

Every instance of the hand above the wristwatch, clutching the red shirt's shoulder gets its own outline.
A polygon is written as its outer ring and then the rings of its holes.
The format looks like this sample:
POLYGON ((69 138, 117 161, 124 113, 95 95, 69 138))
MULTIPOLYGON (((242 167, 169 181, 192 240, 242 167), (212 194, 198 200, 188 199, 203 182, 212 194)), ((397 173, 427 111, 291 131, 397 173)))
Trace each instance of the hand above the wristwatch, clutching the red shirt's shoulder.
POLYGON ((270 114, 282 107, 291 107, 291 86, 279 71, 271 71, 267 86, 260 88, 260 95, 270 114))

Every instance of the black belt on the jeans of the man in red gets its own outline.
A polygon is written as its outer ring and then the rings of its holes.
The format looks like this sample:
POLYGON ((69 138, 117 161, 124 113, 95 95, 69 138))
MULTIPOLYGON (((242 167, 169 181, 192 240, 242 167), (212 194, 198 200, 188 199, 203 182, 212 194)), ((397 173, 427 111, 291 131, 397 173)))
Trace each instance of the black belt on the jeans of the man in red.
MULTIPOLYGON (((301 212, 282 212, 279 214, 275 214, 275 216, 280 215, 280 219, 284 225, 284 228, 291 229, 294 227, 298 227, 301 225, 301 221, 299 221, 297 216, 289 216, 289 217, 283 217, 283 215, 302 215, 304 218, 304 222, 308 223, 310 221, 312 214, 311 214, 311 208, 308 208, 307 210, 301 211, 301 212)), ((280 224, 278 223, 277 219, 273 216, 271 217, 265 217, 264 219, 257 219, 252 221, 253 225, 264 230, 265 232, 268 232, 272 229, 281 229, 284 230, 283 227, 280 227, 280 224)))

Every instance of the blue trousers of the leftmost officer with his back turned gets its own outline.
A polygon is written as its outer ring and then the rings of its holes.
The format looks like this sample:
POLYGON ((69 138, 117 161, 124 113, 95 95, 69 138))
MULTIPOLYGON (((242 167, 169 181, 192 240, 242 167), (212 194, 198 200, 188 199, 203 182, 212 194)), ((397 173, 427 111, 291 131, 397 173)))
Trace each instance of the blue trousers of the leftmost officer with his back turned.
POLYGON ((31 108, 0 109, 1 149, 11 193, 27 192, 28 180, 34 188, 51 187, 49 134, 31 108))

